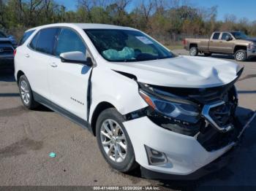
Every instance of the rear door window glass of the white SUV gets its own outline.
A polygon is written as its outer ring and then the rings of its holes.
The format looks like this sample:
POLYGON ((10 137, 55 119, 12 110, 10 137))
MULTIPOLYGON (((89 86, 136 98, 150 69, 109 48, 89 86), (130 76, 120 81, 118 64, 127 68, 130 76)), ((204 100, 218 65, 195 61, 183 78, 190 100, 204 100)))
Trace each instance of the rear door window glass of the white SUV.
POLYGON ((39 52, 53 55, 54 44, 59 28, 45 28, 34 36, 30 47, 39 52))

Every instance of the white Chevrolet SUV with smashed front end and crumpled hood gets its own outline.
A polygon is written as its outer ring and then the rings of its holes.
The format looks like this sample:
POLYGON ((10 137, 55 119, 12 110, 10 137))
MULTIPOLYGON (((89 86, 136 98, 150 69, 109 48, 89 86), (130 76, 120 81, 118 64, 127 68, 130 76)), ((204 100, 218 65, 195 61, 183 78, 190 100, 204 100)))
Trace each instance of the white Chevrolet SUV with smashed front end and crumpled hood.
POLYGON ((15 50, 24 106, 48 106, 89 129, 118 171, 139 164, 147 178, 195 177, 242 130, 236 63, 176 55, 121 26, 51 24, 24 38, 15 50))

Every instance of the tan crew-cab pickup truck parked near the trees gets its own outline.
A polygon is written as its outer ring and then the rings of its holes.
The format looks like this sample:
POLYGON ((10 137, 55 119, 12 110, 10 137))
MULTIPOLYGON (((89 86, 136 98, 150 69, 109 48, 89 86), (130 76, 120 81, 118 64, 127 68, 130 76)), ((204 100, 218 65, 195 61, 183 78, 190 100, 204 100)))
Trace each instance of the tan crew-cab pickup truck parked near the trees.
POLYGON ((206 56, 217 53, 234 55, 236 61, 246 61, 256 56, 256 39, 249 39, 239 31, 214 32, 211 39, 184 39, 184 48, 192 56, 198 53, 206 56))

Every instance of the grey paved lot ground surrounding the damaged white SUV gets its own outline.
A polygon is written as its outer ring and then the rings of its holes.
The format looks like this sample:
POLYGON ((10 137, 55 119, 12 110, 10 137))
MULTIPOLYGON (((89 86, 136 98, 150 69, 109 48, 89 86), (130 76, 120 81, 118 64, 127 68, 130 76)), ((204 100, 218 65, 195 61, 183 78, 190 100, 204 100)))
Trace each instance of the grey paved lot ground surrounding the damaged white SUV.
MULTIPOLYGON (((176 52, 187 55, 185 50, 176 52)), ((232 58, 214 55, 215 58, 232 58)), ((241 114, 256 110, 256 61, 245 66, 237 83, 241 114)), ((232 163, 197 182, 159 182, 113 171, 99 153, 96 139, 59 114, 21 104, 12 74, 0 74, 0 186, 4 185, 159 185, 180 190, 207 186, 256 186, 256 120, 244 133, 232 163), (48 157, 56 152, 55 158, 48 157)))

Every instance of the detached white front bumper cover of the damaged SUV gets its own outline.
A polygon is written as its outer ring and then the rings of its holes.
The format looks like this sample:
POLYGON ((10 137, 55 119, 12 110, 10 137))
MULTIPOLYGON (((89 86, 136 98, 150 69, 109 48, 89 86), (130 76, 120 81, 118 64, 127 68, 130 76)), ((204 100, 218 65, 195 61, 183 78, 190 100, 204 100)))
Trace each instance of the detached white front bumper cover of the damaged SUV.
MULTIPOLYGON (((160 176, 159 179, 165 179, 165 177, 171 179, 173 176, 188 175, 197 179, 195 174, 198 174, 198 169, 204 169, 203 167, 217 160, 236 144, 231 142, 221 149, 208 152, 195 137, 161 128, 151 122, 148 117, 124 122, 124 126, 132 141, 136 161, 141 165, 142 175, 151 179, 157 179, 157 176, 160 176), (164 152, 168 162, 163 165, 149 165, 144 145, 164 152)), ((225 165, 223 161, 222 164, 225 165)), ((222 165, 219 166, 222 167, 222 165)))

